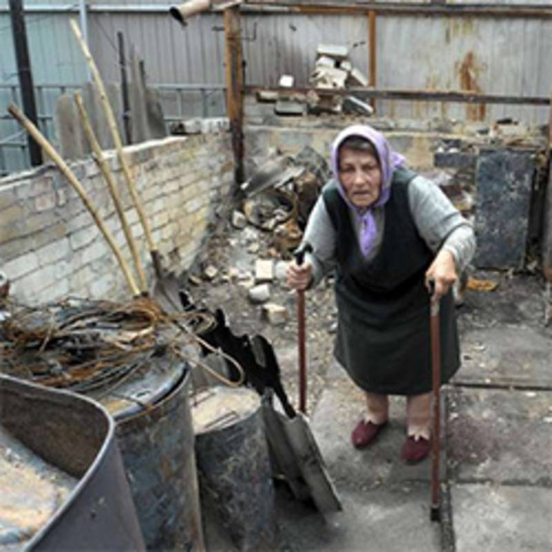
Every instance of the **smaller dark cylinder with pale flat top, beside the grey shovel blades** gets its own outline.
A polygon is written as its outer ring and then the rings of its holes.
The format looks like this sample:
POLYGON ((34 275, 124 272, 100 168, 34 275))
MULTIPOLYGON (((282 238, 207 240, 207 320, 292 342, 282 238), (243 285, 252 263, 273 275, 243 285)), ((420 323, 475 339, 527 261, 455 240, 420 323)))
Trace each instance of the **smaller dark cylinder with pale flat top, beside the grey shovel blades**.
POLYGON ((201 499, 242 552, 275 549, 275 496, 259 395, 214 386, 193 398, 201 499))

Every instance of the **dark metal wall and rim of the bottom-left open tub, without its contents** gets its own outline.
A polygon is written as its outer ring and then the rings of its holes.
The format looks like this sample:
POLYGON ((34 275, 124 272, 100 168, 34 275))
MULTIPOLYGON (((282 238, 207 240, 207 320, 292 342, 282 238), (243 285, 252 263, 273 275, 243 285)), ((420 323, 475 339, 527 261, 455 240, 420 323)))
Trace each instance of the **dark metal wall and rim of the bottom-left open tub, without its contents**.
POLYGON ((101 405, 0 375, 0 424, 43 460, 79 478, 27 550, 145 550, 115 422, 101 405))

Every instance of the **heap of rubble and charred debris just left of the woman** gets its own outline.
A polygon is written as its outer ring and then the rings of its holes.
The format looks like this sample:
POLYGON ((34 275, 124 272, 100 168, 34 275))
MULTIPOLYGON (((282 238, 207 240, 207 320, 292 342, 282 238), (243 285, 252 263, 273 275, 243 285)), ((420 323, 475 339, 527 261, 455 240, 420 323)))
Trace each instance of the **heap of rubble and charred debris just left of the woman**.
MULTIPOLYGON (((274 288, 286 290, 286 270, 293 250, 302 240, 308 215, 330 169, 324 157, 306 146, 291 158, 270 152, 255 162, 253 175, 241 187, 242 200, 232 213, 234 228, 225 257, 208 254, 188 281, 235 284, 246 290, 248 302, 261 306, 269 324, 288 320, 288 308, 274 299, 274 288), (236 231, 237 230, 237 231, 236 231)), ((219 250, 220 251, 220 250, 219 250)), ((280 298, 282 299, 282 298, 280 298)))

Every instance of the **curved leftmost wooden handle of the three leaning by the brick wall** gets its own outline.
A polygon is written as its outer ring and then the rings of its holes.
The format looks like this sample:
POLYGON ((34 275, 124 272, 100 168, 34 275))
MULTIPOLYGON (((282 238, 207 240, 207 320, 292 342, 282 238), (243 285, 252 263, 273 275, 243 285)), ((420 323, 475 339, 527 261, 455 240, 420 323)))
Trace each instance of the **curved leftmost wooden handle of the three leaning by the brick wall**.
POLYGON ((113 239, 107 226, 103 224, 103 221, 99 217, 97 210, 92 204, 92 201, 90 201, 86 190, 84 190, 84 188, 81 186, 80 182, 77 180, 77 177, 75 177, 75 174, 67 166, 66 162, 63 161, 61 155, 59 155, 59 153, 53 148, 52 144, 50 144, 50 142, 41 134, 40 130, 36 126, 34 126, 34 124, 32 124, 32 122, 27 117, 25 117, 25 115, 23 115, 23 112, 21 112, 21 110, 19 110, 17 106, 12 103, 10 106, 8 106, 8 112, 10 113, 10 115, 12 115, 12 117, 14 117, 14 119, 17 119, 19 124, 21 124, 21 126, 23 126, 23 128, 25 128, 25 130, 34 138, 34 140, 37 142, 37 144, 39 144, 39 146, 41 146, 46 155, 48 155, 48 157, 50 157, 50 159, 52 159, 52 161, 55 163, 57 168, 59 168, 61 174, 66 177, 69 184, 73 188, 75 188, 75 191, 81 198, 84 206, 88 209, 90 215, 92 215, 92 218, 97 224, 100 232, 103 234, 103 237, 106 239, 106 242, 108 242, 108 245, 110 246, 115 257, 117 257, 119 266, 121 266, 126 281, 128 282, 128 286, 132 291, 132 295, 139 295, 140 290, 136 285, 134 277, 132 277, 132 273, 128 268, 128 264, 126 264, 123 255, 121 255, 121 250, 119 249, 119 247, 117 247, 117 244, 115 243, 115 240, 113 239))

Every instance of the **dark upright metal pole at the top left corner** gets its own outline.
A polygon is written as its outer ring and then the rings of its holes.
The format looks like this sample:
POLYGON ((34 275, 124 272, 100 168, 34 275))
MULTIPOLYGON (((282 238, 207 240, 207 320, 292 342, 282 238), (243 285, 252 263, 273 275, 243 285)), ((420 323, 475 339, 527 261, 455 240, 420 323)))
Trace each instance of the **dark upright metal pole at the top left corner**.
MULTIPOLYGON (((21 88, 21 101, 23 112, 34 126, 38 126, 37 105, 34 102, 34 88, 32 86, 32 71, 30 68, 29 49, 27 44, 27 32, 23 15, 23 2, 10 0, 10 19, 12 20, 12 34, 17 61, 17 75, 21 88)), ((28 136, 30 164, 37 166, 42 164, 42 152, 37 142, 28 136)))

